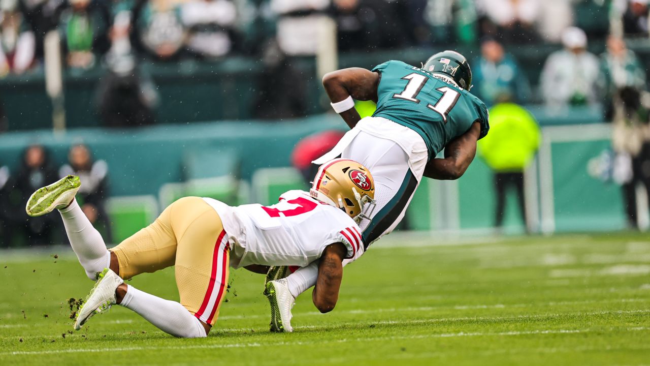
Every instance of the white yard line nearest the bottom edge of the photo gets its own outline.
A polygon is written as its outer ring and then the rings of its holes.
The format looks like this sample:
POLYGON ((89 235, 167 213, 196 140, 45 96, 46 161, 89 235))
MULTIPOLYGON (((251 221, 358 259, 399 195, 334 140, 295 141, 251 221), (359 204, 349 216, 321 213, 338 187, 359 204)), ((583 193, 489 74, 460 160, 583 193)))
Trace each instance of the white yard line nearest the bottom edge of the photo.
MULTIPOLYGON (((644 331, 649 330, 647 327, 624 328, 626 331, 644 331)), ((617 330, 613 328, 612 330, 617 330)), ((619 329, 618 329, 619 330, 619 329)), ((430 339, 430 338, 456 338, 456 337, 509 337, 518 335, 546 335, 546 334, 574 334, 590 333, 591 328, 586 329, 567 329, 567 330, 530 330, 530 331, 502 331, 502 332, 458 332, 458 333, 437 333, 422 335, 398 335, 390 337, 363 337, 354 339, 327 339, 318 341, 289 341, 289 342, 272 342, 272 343, 217 343, 212 345, 184 345, 184 346, 133 346, 133 347, 116 347, 116 348, 78 348, 66 350, 40 350, 40 351, 13 351, 3 352, 0 356, 25 356, 38 354, 70 354, 70 353, 96 353, 96 352, 127 352, 141 350, 187 350, 187 349, 211 349, 211 348, 248 348, 248 347, 274 347, 274 346, 302 346, 302 345, 322 345, 324 343, 348 343, 370 341, 399 341, 407 339, 430 339)))

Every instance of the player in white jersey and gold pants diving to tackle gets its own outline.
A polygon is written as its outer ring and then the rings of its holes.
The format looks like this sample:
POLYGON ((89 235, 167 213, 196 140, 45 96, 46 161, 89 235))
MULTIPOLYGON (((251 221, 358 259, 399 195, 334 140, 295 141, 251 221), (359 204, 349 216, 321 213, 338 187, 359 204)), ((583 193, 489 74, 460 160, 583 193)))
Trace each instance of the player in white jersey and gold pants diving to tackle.
MULTIPOLYGON (((258 273, 268 266, 318 265, 313 302, 320 311, 337 303, 344 259, 363 253, 357 224, 374 208, 374 182, 363 165, 337 159, 318 172, 309 193, 288 191, 273 206, 231 207, 214 199, 184 197, 170 204, 148 227, 107 249, 75 199, 81 182, 69 175, 35 191, 29 216, 59 210, 72 249, 90 279, 98 279, 79 309, 75 330, 92 315, 119 304, 176 337, 205 337, 224 299, 228 268, 258 273), (164 300, 124 283, 144 272, 175 266, 180 302, 164 300)), ((293 297, 283 281, 266 285, 278 330, 291 331, 293 297)))

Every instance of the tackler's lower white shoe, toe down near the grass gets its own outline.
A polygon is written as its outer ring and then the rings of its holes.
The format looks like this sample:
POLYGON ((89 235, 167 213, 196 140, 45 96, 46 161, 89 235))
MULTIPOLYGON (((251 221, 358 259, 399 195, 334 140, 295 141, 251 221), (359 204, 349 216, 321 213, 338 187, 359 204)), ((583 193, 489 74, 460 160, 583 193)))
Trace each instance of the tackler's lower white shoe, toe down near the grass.
POLYGON ((115 290, 122 283, 124 281, 120 276, 109 270, 109 268, 104 268, 98 274, 95 287, 92 288, 90 294, 88 294, 79 308, 77 319, 75 320, 75 330, 80 330, 81 326, 93 315, 107 311, 112 305, 115 305, 115 290))

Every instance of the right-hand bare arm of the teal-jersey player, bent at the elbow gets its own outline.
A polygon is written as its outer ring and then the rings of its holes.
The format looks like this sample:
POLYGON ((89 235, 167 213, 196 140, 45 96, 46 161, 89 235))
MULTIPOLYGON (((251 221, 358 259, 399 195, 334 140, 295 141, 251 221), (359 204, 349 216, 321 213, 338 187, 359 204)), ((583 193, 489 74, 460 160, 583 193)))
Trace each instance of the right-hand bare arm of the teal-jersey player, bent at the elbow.
POLYGON ((439 180, 460 178, 476 156, 476 141, 480 133, 480 123, 474 122, 469 131, 445 146, 445 158, 432 159, 426 164, 424 176, 439 180))

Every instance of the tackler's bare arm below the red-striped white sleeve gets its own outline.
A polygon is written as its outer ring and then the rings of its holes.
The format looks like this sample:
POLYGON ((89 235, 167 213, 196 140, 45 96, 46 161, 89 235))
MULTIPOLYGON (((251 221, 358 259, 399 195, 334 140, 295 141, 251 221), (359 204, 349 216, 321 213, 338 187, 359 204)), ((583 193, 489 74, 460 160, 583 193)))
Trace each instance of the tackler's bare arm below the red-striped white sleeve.
POLYGON ((332 311, 339 300, 339 289, 343 279, 343 259, 346 251, 343 243, 330 244, 320 257, 316 287, 311 297, 321 313, 332 311))

